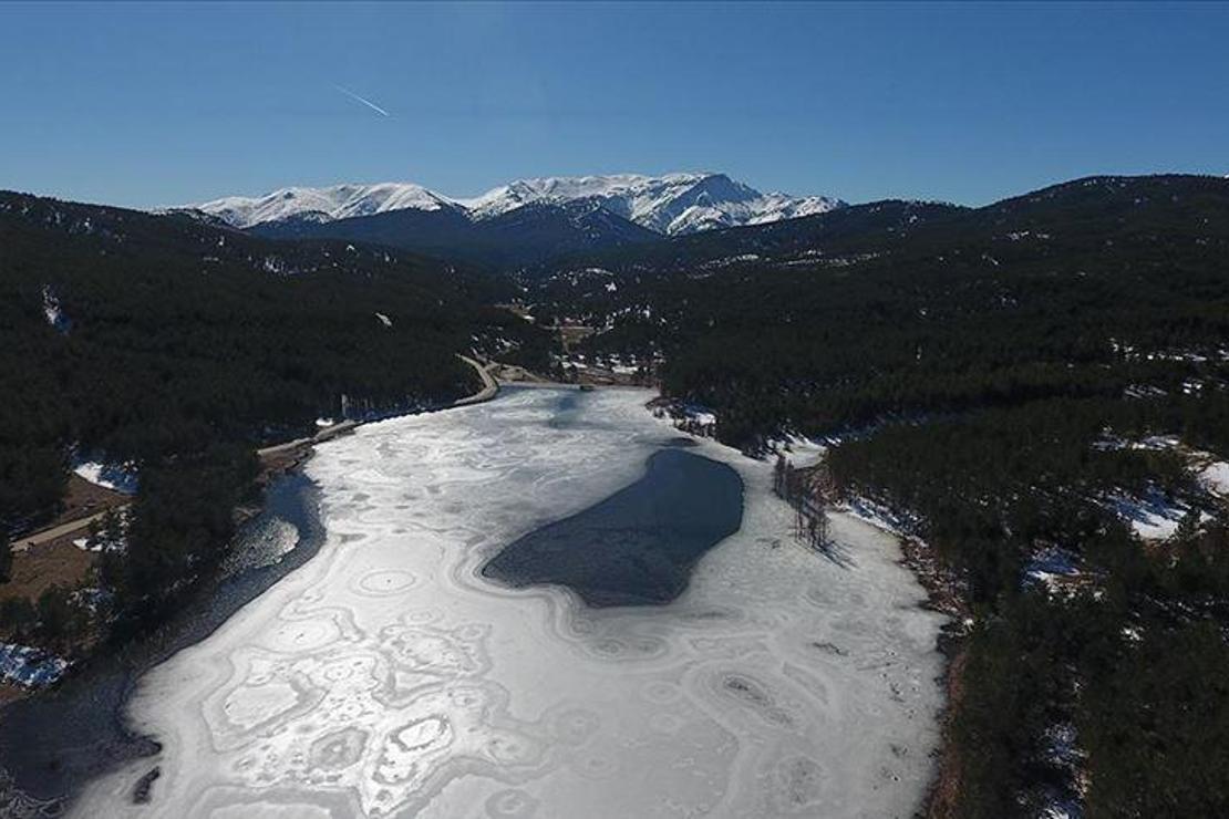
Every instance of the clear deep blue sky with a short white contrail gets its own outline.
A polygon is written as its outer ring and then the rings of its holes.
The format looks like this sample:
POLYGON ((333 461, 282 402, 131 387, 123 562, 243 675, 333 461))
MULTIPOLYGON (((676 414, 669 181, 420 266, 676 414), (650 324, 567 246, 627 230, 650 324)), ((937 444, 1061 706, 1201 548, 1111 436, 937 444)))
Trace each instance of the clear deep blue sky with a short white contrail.
POLYGON ((130 206, 676 169, 981 204, 1229 172, 1211 4, 0 4, 0 188, 130 206))

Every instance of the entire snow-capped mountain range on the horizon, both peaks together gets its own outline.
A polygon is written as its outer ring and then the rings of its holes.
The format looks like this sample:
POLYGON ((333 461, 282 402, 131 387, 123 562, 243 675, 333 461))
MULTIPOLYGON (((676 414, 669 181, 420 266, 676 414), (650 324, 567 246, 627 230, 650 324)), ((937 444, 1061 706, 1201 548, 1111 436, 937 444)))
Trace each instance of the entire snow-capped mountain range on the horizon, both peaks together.
POLYGON ((822 214, 844 205, 827 196, 763 194, 724 173, 621 173, 595 177, 519 179, 474 199, 454 199, 409 183, 284 188, 267 196, 227 196, 190 206, 227 223, 254 225, 296 220, 328 222, 393 210, 455 209, 484 221, 528 204, 594 203, 630 222, 676 236, 719 227, 758 225, 822 214))

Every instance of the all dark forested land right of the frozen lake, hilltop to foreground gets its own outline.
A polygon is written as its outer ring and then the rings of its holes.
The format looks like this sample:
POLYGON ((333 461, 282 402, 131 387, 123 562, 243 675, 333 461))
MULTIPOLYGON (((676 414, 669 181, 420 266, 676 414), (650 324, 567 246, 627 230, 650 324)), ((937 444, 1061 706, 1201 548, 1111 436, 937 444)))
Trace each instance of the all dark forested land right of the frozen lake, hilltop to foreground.
POLYGON ((967 626, 930 815, 1229 815, 1229 180, 853 206, 530 308, 664 357, 724 441, 834 436, 820 485, 921 539, 967 626))

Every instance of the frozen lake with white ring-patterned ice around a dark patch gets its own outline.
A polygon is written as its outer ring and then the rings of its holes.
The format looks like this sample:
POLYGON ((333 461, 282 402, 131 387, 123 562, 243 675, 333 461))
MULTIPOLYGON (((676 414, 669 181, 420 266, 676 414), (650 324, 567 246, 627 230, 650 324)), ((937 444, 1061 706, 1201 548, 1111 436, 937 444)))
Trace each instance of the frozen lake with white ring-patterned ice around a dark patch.
POLYGON ((318 554, 141 679, 129 715, 162 751, 91 783, 76 813, 911 815, 941 616, 891 538, 838 517, 850 565, 805 551, 771 464, 676 451, 650 397, 515 389, 321 446, 318 554), (658 524, 691 538, 669 565, 653 555, 682 540, 658 524), (643 572, 595 580, 578 538, 643 572), (510 544, 515 583, 484 576, 510 544), (640 577, 662 583, 654 604, 619 605, 640 577))

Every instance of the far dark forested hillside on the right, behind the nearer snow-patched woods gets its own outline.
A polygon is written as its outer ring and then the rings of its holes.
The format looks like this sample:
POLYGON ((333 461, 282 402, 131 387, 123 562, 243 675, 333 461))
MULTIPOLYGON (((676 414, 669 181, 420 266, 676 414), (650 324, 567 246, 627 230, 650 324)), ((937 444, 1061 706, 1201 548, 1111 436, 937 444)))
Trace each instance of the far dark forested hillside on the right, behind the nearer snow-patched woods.
POLYGON ((1224 179, 879 203, 669 248, 558 265, 535 312, 608 327, 591 352, 664 352, 667 390, 724 410, 731 442, 1137 382, 1181 392, 1211 365, 1175 355, 1215 359, 1229 329, 1224 179))

